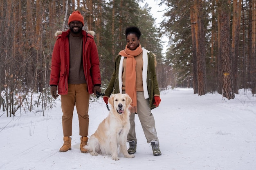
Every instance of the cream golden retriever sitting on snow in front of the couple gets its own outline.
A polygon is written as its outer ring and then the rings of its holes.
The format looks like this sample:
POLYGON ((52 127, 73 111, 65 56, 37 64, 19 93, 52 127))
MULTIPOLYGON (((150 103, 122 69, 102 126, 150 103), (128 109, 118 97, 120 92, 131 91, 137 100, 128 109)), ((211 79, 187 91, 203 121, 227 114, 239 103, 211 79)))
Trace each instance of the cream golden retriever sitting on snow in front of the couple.
POLYGON ((133 158, 127 152, 126 139, 130 129, 129 107, 132 99, 128 94, 112 94, 108 99, 111 105, 108 116, 99 124, 91 135, 88 145, 84 146, 91 155, 112 155, 113 160, 119 160, 118 152, 124 157, 133 158))

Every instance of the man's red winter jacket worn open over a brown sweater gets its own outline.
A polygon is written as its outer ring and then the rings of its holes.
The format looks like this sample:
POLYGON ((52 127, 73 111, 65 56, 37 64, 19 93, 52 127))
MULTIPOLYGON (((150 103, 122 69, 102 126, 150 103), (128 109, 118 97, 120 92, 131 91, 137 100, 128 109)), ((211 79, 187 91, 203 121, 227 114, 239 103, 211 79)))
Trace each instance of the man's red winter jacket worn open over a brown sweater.
MULTIPOLYGON (((52 65, 50 75, 50 85, 58 86, 58 94, 67 94, 68 74, 70 68, 70 49, 68 35, 70 30, 57 35, 56 43, 52 52, 52 65)), ((99 70, 99 55, 94 37, 86 31, 83 35, 83 70, 88 86, 88 92, 93 93, 96 84, 101 85, 101 75, 99 70)))

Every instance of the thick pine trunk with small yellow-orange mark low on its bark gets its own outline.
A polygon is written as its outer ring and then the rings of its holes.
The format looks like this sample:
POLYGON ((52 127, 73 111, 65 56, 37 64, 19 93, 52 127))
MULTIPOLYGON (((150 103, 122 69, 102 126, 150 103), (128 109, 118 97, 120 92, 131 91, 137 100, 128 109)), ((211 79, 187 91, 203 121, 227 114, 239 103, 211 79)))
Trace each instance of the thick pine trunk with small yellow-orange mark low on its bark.
POLYGON ((217 0, 220 24, 220 50, 222 61, 222 96, 227 99, 235 98, 231 70, 230 49, 230 0, 217 0))

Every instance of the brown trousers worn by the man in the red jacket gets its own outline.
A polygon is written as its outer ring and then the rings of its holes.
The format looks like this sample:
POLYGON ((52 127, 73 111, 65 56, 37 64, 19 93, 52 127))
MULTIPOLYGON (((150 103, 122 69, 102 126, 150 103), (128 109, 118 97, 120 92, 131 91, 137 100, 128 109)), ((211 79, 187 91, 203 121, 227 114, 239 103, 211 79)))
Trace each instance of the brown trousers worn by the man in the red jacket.
POLYGON ((63 136, 72 135, 72 118, 74 106, 79 119, 79 135, 88 136, 89 126, 89 97, 90 94, 87 91, 87 84, 68 84, 67 95, 61 95, 61 108, 63 112, 62 116, 62 128, 63 136))

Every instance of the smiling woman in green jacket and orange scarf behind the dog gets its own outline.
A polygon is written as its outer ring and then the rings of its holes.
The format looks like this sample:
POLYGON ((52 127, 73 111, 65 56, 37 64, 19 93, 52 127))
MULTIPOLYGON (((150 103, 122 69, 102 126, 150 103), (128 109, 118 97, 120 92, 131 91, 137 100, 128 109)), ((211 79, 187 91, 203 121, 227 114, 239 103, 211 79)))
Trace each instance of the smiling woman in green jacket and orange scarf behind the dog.
POLYGON ((103 100, 108 104, 110 95, 126 93, 132 98, 130 131, 127 136, 129 154, 137 148, 135 114, 138 114, 147 142, 151 143, 153 155, 161 155, 151 109, 159 106, 160 92, 155 71, 155 56, 139 44, 141 32, 137 27, 126 28, 126 48, 115 59, 115 69, 105 91, 103 100), (121 65, 121 67, 120 67, 121 65))

